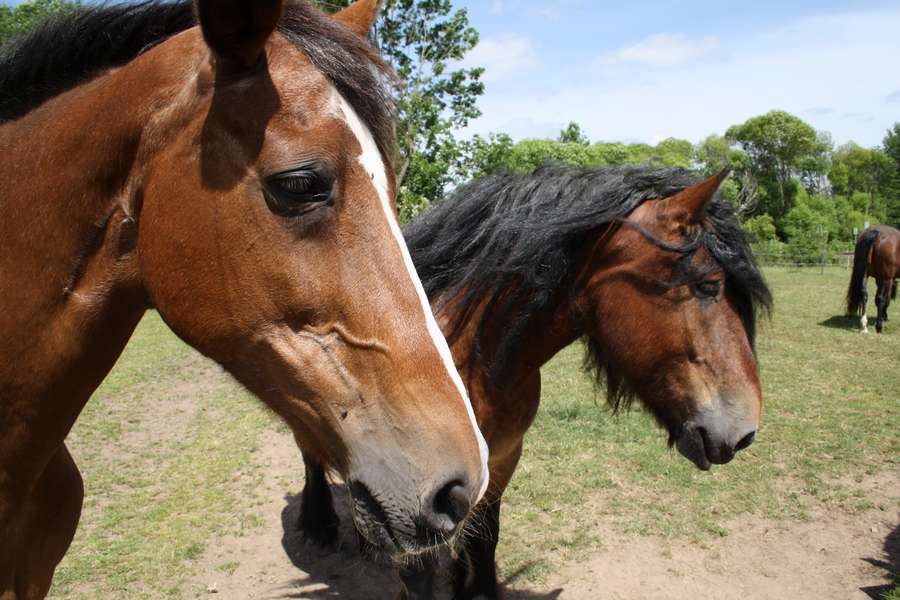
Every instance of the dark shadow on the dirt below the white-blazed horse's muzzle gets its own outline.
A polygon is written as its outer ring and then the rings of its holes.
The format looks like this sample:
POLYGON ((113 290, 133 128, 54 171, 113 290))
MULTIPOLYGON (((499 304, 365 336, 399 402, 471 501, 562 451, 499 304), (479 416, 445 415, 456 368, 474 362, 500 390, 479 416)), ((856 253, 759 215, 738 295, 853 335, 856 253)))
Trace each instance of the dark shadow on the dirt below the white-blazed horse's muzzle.
MULTIPOLYGON (((383 561, 363 557, 359 541, 353 529, 353 520, 347 486, 332 484, 334 507, 341 520, 337 548, 322 548, 308 542, 297 524, 300 519, 302 499, 286 496, 287 504, 281 511, 283 535, 281 545, 291 563, 303 571, 304 576, 290 582, 288 589, 275 592, 271 598, 306 598, 309 600, 394 600, 400 594, 399 579, 394 567, 383 561)), ((447 561, 442 561, 436 585, 438 598, 449 598, 450 581, 447 561)), ((528 567, 523 567, 521 571, 528 567)), ((521 572, 513 573, 503 587, 511 585, 521 572)), ((507 590, 508 600, 557 600, 561 589, 550 592, 507 590)))

